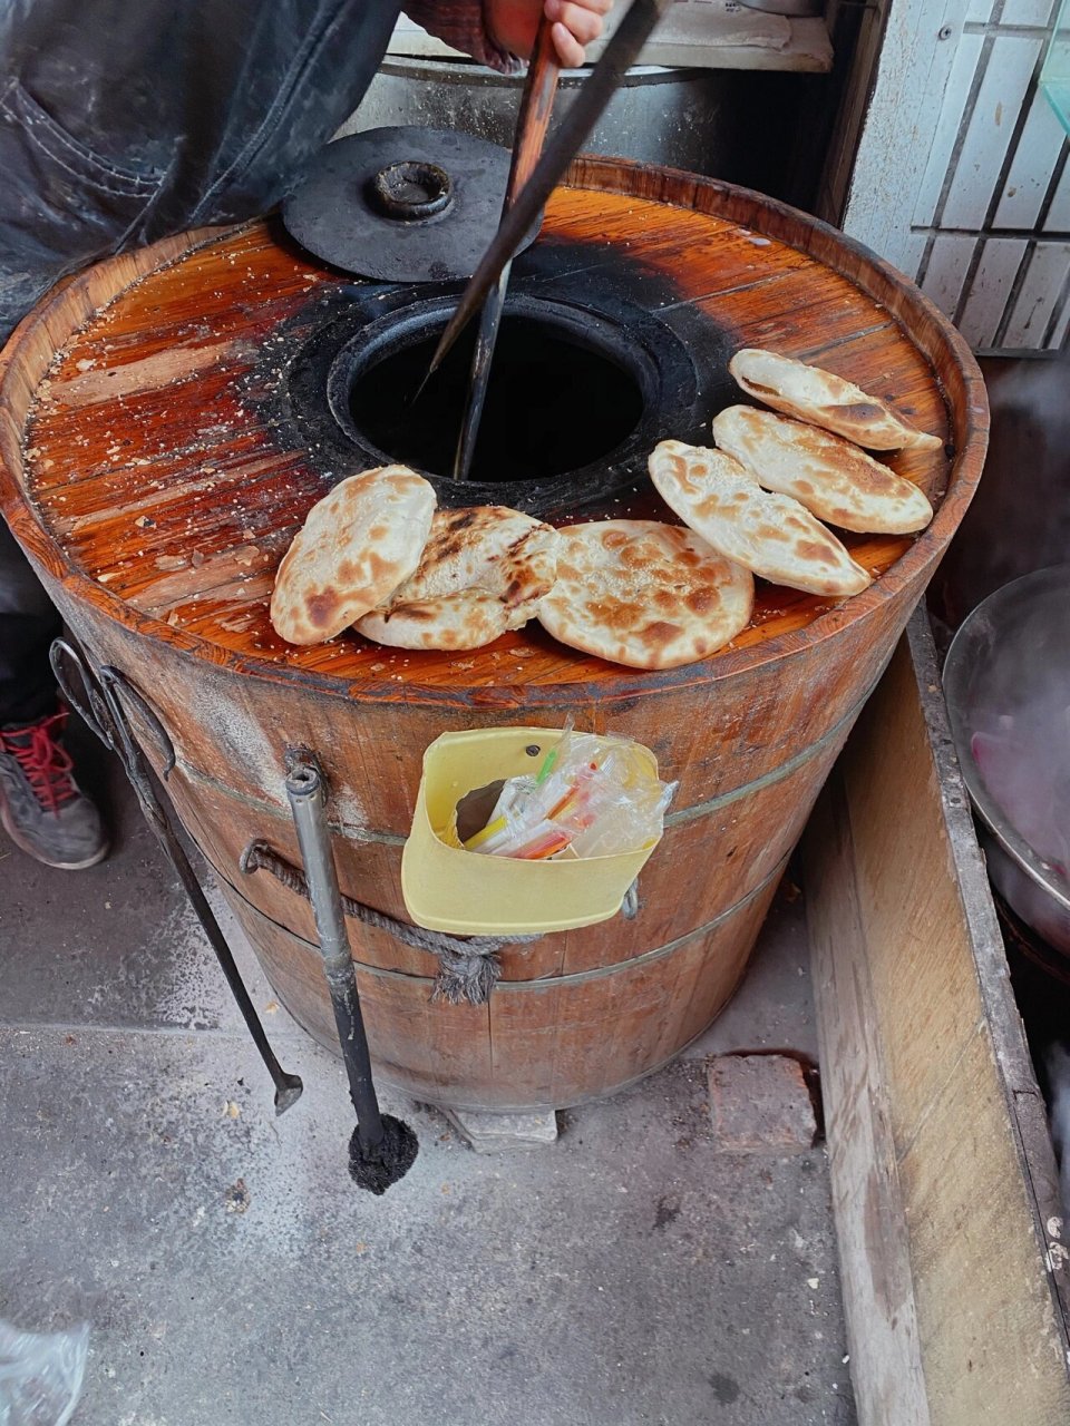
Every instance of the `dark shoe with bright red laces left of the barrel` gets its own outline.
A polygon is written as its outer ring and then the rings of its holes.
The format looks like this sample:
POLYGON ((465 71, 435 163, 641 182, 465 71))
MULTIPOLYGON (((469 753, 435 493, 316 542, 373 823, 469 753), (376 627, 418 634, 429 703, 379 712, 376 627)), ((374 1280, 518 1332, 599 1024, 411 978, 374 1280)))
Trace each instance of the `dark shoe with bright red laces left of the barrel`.
POLYGON ((0 727, 0 823, 17 847, 46 867, 80 871, 103 861, 100 813, 71 777, 60 743, 67 713, 0 727))

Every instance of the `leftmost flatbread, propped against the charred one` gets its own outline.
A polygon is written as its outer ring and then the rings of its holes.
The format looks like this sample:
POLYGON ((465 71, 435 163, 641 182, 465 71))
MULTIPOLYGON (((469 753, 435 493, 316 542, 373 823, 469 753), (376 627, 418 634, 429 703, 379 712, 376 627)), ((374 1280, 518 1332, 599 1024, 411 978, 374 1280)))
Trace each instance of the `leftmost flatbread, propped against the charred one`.
POLYGON ((419 563, 435 503, 434 486, 404 465, 335 485, 278 566, 275 633, 287 643, 322 643, 381 603, 419 563))

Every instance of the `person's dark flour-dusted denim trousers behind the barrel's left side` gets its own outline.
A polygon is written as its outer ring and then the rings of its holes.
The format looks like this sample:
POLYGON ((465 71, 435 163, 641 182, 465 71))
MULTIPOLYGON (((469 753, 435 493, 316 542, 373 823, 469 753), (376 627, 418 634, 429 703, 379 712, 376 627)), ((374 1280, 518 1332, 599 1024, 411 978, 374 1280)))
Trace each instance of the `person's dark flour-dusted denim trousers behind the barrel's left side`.
MULTIPOLYGON (((57 278, 274 207, 399 0, 0 0, 0 341, 57 278)), ((54 706, 51 607, 0 522, 0 727, 54 706)))

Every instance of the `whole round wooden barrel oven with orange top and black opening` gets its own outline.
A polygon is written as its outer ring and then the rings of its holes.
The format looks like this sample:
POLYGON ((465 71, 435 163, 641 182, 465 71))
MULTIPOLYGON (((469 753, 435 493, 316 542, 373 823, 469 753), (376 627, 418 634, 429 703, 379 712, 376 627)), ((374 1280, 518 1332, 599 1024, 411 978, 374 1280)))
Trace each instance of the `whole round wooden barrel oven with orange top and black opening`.
MULTIPOLYGON (((351 635, 288 647, 267 617, 275 565, 334 479, 379 463, 374 441, 342 429, 357 405, 327 402, 337 352, 360 365, 421 304, 444 317, 452 291, 354 281, 264 222, 110 260, 43 302, 7 348, 3 509, 90 656, 158 712, 185 827, 278 997, 327 1045, 310 908, 241 870, 257 838, 298 861, 287 747, 314 749, 327 771, 342 890, 399 917, 421 756, 439 733, 572 713, 655 750, 681 786, 638 914, 506 950, 488 1004, 432 1002, 432 955, 350 923, 384 1078, 458 1108, 564 1107, 663 1064, 732 994, 817 790, 969 503, 987 412, 949 324, 830 228, 712 180, 579 161, 514 291, 592 332, 615 324, 623 341, 615 351, 606 338, 608 359, 635 366, 643 415, 601 463, 532 481, 529 506, 658 509, 649 445, 708 438, 732 399, 728 355, 765 345, 892 396, 946 436, 947 455, 892 461, 936 519, 914 540, 849 538, 879 578, 839 606, 759 582, 750 627, 669 673, 585 657, 534 625, 459 657, 351 635)), ((438 483, 452 503, 488 498, 438 483)), ((526 499, 524 482, 499 489, 526 499)))

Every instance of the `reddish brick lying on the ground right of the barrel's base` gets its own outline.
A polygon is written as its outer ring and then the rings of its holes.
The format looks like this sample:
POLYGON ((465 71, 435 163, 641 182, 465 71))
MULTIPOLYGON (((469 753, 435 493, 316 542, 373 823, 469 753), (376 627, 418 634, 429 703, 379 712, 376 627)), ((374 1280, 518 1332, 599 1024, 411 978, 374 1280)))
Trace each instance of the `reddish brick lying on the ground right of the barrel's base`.
POLYGON ((788 1055, 716 1055, 709 1112, 722 1154, 802 1154, 817 1132, 802 1068, 788 1055))

